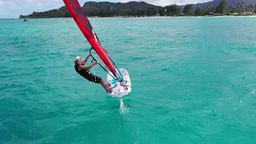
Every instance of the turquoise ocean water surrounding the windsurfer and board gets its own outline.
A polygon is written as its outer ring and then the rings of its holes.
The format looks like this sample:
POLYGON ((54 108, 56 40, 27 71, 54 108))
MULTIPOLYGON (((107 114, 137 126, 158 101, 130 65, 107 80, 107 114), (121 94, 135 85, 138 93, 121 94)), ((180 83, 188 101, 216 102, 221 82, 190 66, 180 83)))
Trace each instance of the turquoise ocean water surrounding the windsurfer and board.
POLYGON ((256 17, 90 22, 132 92, 74 71, 90 45, 72 18, 1 19, 0 143, 256 142, 256 17))

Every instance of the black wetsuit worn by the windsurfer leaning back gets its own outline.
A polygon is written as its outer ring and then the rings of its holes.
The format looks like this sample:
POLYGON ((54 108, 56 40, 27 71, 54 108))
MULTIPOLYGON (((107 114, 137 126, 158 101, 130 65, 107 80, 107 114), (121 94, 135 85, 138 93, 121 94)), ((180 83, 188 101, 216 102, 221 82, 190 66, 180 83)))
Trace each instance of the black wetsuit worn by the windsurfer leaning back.
MULTIPOLYGON (((83 78, 86 78, 90 82, 100 83, 102 78, 90 73, 90 70, 80 70, 78 71, 79 65, 74 65, 74 69, 80 74, 83 78)), ((83 66, 83 65, 82 65, 83 66)))

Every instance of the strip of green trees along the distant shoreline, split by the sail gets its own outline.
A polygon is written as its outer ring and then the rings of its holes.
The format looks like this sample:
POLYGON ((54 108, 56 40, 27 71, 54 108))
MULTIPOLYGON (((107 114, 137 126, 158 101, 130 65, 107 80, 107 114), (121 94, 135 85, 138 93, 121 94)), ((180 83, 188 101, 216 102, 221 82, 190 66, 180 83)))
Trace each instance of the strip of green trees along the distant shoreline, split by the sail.
MULTIPOLYGON (((238 2, 237 6, 228 6, 229 0, 222 0, 218 6, 204 6, 202 9, 199 7, 194 8, 193 5, 178 6, 176 4, 164 7, 149 7, 147 9, 139 10, 112 10, 112 9, 84 9, 87 16, 99 17, 113 17, 113 16, 204 16, 210 14, 243 14, 245 11, 255 12, 256 5, 246 5, 245 2, 238 2), (183 7, 183 8, 182 8, 183 7)), ((71 17, 65 6, 58 10, 49 10, 46 12, 34 12, 29 16, 21 15, 20 18, 68 18, 71 17)))

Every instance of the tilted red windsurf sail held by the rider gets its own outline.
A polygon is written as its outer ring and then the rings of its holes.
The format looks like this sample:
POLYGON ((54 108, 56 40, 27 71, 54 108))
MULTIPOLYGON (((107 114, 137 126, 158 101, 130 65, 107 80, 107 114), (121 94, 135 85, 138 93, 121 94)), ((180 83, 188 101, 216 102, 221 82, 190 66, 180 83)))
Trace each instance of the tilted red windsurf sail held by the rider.
POLYGON ((114 62, 110 59, 106 50, 99 42, 98 36, 93 27, 90 25, 89 19, 86 18, 86 14, 83 12, 78 0, 63 0, 63 2, 65 3, 67 10, 70 11, 70 14, 74 18, 74 21, 78 25, 79 29, 82 31, 82 34, 86 37, 92 48, 102 59, 102 62, 105 63, 106 67, 114 74, 116 78, 118 78, 119 81, 122 81, 122 78, 120 78, 118 74, 118 68, 114 65, 114 62))

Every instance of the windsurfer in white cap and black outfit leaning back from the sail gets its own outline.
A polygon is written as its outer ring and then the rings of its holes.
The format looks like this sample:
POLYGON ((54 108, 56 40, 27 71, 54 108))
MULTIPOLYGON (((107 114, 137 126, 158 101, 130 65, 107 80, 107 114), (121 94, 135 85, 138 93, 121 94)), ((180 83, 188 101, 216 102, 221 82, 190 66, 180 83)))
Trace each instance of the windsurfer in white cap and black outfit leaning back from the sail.
POLYGON ((111 93, 111 90, 109 90, 110 84, 105 84, 102 78, 98 77, 97 75, 94 75, 90 72, 90 69, 98 64, 98 62, 94 62, 90 66, 84 66, 86 62, 88 61, 88 58, 90 58, 91 54, 89 54, 86 59, 82 62, 81 58, 79 56, 74 58, 74 69, 77 71, 78 74, 80 74, 83 78, 86 78, 90 82, 94 83, 100 83, 102 84, 103 88, 106 90, 107 93, 111 93))

